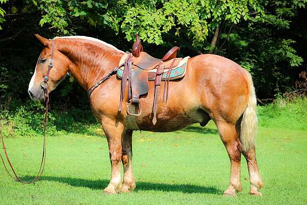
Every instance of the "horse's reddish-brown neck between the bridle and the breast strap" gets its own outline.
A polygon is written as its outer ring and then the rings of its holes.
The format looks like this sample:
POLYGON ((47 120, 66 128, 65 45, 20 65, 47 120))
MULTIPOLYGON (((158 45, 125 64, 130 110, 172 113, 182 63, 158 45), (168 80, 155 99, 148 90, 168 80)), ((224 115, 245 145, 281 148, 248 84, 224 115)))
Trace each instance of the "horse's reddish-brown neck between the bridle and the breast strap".
MULTIPOLYGON (((64 39, 61 39, 61 41, 64 39)), ((98 80, 118 66, 122 52, 82 40, 65 39, 59 50, 72 64, 69 73, 78 83, 89 90, 98 80)))

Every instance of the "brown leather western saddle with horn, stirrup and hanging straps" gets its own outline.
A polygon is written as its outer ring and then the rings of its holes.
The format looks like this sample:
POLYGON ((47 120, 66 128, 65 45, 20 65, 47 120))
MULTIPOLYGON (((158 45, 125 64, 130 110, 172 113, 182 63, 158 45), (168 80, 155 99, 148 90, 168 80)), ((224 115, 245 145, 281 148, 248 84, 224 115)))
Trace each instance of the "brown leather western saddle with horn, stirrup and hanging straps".
POLYGON ((155 125, 157 122, 157 107, 162 75, 165 73, 164 70, 168 69, 166 72, 166 77, 164 78, 165 84, 163 93, 163 103, 164 101, 167 103, 169 77, 171 70, 172 68, 178 66, 180 60, 182 59, 176 57, 179 50, 179 47, 173 47, 165 54, 162 59, 152 57, 143 51, 143 46, 140 42, 139 36, 136 34, 136 42, 133 45, 132 54, 128 53, 124 60, 123 75, 121 79, 120 105, 118 110, 122 110, 126 83, 128 81, 127 114, 131 116, 140 116, 142 114, 139 105, 140 97, 145 97, 148 93, 148 80, 155 80, 155 93, 152 108, 152 123, 155 125), (154 69, 157 69, 155 76, 148 76, 148 71, 154 69))

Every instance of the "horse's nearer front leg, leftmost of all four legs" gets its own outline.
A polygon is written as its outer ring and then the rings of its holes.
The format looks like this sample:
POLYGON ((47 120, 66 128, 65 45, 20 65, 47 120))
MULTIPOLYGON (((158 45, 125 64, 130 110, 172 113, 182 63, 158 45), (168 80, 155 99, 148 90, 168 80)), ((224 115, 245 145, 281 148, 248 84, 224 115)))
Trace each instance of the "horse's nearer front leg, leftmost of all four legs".
POLYGON ((107 194, 116 194, 122 186, 120 161, 122 157, 122 135, 124 126, 122 123, 116 122, 115 119, 102 119, 102 129, 108 142, 112 167, 111 180, 103 192, 107 194))

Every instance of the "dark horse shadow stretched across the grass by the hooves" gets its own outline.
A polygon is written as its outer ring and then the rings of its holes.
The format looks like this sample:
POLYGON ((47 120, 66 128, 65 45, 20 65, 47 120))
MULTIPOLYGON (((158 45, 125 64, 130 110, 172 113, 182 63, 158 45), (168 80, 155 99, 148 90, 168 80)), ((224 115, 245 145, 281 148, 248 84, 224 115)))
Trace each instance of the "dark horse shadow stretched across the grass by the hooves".
MULTIPOLYGON (((25 179, 31 179, 30 176, 24 177, 25 179)), ((56 176, 42 176, 40 180, 56 181, 65 183, 73 187, 85 187, 93 190, 103 190, 109 180, 89 180, 71 177, 56 177, 56 176)), ((223 191, 216 189, 215 187, 203 187, 196 185, 170 185, 167 183, 153 183, 153 182, 136 182, 135 191, 164 191, 164 192, 183 192, 183 193, 205 193, 205 194, 223 194, 223 191)))

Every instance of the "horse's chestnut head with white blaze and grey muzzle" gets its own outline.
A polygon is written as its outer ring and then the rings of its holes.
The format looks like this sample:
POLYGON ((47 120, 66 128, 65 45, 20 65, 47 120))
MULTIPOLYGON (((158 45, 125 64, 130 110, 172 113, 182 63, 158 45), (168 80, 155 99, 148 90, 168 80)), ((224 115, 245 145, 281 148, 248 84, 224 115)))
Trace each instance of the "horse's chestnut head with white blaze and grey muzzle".
POLYGON ((55 42, 54 46, 52 46, 52 40, 41 37, 38 34, 35 34, 35 36, 42 43, 43 49, 37 60, 34 74, 29 84, 28 92, 33 100, 42 100, 45 98, 43 87, 47 86, 49 92, 54 90, 67 74, 70 60, 57 50, 57 45, 55 42), (46 77, 49 70, 52 50, 54 52, 53 66, 50 69, 48 83, 43 83, 44 77, 46 77))

